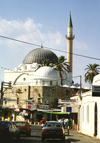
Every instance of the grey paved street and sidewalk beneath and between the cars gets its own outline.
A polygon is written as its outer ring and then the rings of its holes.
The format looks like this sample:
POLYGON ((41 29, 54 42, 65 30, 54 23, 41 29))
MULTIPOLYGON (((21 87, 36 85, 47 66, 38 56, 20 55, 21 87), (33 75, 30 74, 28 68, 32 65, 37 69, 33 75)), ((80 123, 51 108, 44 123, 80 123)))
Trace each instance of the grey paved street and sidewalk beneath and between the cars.
MULTIPOLYGON (((26 135, 21 135, 20 140, 17 141, 16 139, 13 140, 13 143, 43 143, 41 141, 41 126, 40 125, 32 125, 31 126, 32 132, 30 137, 26 137, 26 135)), ((86 135, 83 135, 81 133, 78 133, 77 131, 70 130, 69 136, 68 132, 65 129, 65 141, 61 140, 46 140, 45 142, 49 143, 100 143, 100 140, 96 138, 92 138, 86 135)), ((4 141, 0 141, 0 143, 4 143, 4 141)), ((5 141, 5 143, 8 143, 8 141, 5 141)))

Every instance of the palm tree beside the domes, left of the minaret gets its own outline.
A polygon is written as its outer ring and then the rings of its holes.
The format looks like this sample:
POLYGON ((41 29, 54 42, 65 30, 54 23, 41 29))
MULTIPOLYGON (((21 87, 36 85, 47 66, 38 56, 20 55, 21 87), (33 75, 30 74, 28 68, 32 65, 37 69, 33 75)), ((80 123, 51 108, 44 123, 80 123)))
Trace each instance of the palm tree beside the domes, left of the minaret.
POLYGON ((69 72, 68 65, 67 62, 65 62, 65 60, 66 59, 64 56, 60 56, 58 58, 58 61, 53 65, 54 69, 59 72, 61 85, 62 85, 63 75, 66 74, 66 71, 69 72))

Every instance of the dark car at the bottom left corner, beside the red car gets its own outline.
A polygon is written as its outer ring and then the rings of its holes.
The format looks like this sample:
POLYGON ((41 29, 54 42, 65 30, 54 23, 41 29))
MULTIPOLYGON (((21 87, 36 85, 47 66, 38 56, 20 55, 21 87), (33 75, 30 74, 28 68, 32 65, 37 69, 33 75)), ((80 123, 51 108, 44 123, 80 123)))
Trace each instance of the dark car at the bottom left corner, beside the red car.
POLYGON ((20 139, 20 129, 12 121, 0 121, 0 140, 20 139))

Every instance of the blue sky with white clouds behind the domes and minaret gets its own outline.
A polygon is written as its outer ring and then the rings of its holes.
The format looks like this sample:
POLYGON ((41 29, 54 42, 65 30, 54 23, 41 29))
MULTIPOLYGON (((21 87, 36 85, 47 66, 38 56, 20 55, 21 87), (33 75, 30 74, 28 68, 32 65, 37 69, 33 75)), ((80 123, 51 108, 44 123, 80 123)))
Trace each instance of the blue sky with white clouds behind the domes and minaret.
MULTIPOLYGON (((0 0, 0 36, 41 44, 59 57, 67 58, 67 27, 71 12, 73 23, 73 78, 82 87, 88 64, 100 64, 100 1, 96 0, 0 0), (55 49, 55 50, 53 50, 55 49), (59 52, 57 50, 65 51, 59 52), (84 55, 92 58, 85 58, 84 55)), ((0 37, 0 81, 4 70, 21 64, 35 45, 0 37)))

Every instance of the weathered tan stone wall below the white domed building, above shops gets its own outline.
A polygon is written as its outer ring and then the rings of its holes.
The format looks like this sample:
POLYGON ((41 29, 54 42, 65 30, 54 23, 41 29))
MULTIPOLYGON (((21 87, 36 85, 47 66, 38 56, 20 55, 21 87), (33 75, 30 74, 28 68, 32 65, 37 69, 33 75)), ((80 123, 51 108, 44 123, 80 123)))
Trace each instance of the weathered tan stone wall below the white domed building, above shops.
POLYGON ((27 105, 26 100, 28 99, 35 99, 36 104, 44 105, 46 101, 49 101, 50 105, 57 106, 58 99, 69 99, 76 92, 74 89, 59 86, 14 86, 6 89, 3 97, 16 101, 3 101, 3 106, 27 105))

